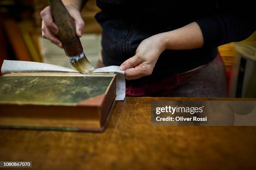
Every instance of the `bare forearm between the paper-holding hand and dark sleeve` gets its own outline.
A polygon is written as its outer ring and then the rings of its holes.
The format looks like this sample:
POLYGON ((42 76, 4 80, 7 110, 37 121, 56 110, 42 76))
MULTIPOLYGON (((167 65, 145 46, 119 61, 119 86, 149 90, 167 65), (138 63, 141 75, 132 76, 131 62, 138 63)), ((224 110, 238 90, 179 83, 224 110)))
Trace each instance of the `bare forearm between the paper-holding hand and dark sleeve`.
POLYGON ((158 34, 164 42, 165 50, 189 50, 204 44, 201 29, 193 22, 182 28, 158 34))

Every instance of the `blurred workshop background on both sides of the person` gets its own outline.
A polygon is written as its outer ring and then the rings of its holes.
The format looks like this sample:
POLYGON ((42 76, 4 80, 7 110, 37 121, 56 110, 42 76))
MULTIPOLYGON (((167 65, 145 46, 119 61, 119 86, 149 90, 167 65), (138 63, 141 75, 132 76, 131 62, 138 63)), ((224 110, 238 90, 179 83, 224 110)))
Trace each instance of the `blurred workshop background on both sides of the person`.
MULTIPOLYGON (((64 50, 41 37, 40 12, 48 0, 0 0, 0 67, 3 60, 26 60, 72 67, 64 50)), ((81 14, 85 21, 82 46, 96 66, 101 28, 94 16, 100 9, 89 0, 81 14)), ((256 32, 242 42, 218 47, 227 73, 229 97, 256 97, 256 32)), ((1 74, 1 73, 0 73, 1 74)))

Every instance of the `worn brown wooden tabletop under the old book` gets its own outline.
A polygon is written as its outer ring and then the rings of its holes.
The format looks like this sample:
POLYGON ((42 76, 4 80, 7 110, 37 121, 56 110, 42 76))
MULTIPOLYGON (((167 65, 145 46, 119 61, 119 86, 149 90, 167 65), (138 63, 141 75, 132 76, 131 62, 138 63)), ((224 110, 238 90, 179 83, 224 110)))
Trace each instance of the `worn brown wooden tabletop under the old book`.
MULTIPOLYGON (((256 127, 152 126, 151 100, 115 102, 103 133, 0 130, 0 161, 34 169, 256 168, 256 127)), ((177 100, 177 99, 176 99, 177 100)))

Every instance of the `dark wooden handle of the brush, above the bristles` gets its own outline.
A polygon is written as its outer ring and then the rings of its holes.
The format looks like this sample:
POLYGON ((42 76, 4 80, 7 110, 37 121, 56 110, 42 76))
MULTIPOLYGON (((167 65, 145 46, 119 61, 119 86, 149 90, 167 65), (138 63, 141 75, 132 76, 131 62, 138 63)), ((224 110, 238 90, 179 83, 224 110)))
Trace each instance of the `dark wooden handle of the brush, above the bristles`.
POLYGON ((59 32, 56 35, 63 45, 67 56, 77 56, 83 52, 83 47, 76 35, 74 20, 69 15, 61 0, 49 0, 51 15, 59 32))

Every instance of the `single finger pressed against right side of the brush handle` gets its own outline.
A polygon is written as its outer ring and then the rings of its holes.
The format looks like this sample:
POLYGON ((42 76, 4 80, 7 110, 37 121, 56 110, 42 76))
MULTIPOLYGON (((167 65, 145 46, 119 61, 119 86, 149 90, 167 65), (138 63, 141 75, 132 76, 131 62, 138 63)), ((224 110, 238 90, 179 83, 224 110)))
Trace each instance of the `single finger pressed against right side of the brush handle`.
POLYGON ((70 10, 69 13, 71 17, 74 19, 77 36, 82 37, 84 30, 84 20, 82 19, 81 14, 79 13, 79 11, 74 10, 70 10))

